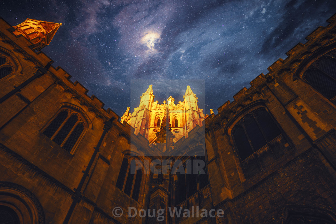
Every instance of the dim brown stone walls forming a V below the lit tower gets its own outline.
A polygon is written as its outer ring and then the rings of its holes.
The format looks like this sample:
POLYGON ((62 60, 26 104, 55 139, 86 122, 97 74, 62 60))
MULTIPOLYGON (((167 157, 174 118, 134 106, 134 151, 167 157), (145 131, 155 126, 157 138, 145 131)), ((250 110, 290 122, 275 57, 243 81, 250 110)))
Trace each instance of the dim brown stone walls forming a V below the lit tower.
POLYGON ((305 44, 288 51, 285 60, 272 64, 268 74, 239 91, 234 101, 225 102, 202 127, 179 139, 174 150, 185 154, 160 157, 146 156, 160 153, 0 19, 0 51, 15 67, 0 80, 0 204, 17 205, 25 211, 22 219, 32 223, 156 223, 146 217, 128 219, 128 207, 169 206, 223 209, 224 217, 165 216, 163 223, 286 223, 297 214, 336 223, 336 105, 303 77, 314 61, 336 48, 335 20, 336 15, 305 44), (72 108, 86 125, 70 152, 43 134, 62 108, 72 108), (241 160, 232 132, 258 108, 265 108, 281 135, 241 160), (125 155, 174 163, 200 151, 206 152, 209 185, 179 205, 175 175, 143 173, 138 200, 116 187, 125 155), (115 207, 124 211, 121 217, 114 216, 115 207))

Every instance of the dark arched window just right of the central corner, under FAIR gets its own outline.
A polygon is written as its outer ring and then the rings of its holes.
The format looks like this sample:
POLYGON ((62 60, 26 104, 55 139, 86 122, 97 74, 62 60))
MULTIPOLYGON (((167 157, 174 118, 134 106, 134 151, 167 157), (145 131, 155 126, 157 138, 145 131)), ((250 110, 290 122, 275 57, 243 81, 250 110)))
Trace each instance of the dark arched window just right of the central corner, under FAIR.
POLYGON ((204 156, 195 156, 186 160, 183 163, 183 167, 185 170, 185 174, 181 174, 179 172, 176 173, 176 204, 179 204, 182 201, 186 200, 188 197, 194 195, 199 190, 209 184, 208 170, 204 156), (205 171, 205 174, 201 174, 200 172, 198 172, 197 174, 188 173, 188 170, 192 172, 194 160, 202 160, 204 162, 205 167, 203 168, 203 170, 205 171))

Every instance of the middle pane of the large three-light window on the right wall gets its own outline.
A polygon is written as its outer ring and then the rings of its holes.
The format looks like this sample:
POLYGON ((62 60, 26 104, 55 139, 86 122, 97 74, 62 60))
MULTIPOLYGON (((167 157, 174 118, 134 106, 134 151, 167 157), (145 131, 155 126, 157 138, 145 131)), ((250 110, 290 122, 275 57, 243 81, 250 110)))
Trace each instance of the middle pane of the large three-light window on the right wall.
POLYGON ((243 125, 255 151, 266 145, 266 141, 252 115, 245 116, 243 125))

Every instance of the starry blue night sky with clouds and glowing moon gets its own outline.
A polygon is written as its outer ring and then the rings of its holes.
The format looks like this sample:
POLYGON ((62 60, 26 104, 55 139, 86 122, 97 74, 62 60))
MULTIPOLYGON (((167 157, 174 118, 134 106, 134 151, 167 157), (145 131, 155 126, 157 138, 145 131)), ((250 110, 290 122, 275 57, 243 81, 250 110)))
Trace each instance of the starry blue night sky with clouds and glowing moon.
POLYGON ((217 113, 335 12, 335 0, 0 2, 12 26, 62 23, 42 51, 119 116, 150 84, 161 103, 190 85, 217 113))

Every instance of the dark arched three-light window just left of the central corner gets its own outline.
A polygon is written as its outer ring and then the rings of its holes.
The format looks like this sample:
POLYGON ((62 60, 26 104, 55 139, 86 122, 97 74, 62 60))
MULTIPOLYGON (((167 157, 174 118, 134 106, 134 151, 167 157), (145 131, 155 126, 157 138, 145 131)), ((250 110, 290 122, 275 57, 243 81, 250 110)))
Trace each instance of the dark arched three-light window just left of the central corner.
POLYGON ((125 157, 120 168, 116 187, 131 196, 134 200, 139 199, 142 170, 136 170, 136 161, 125 157))

